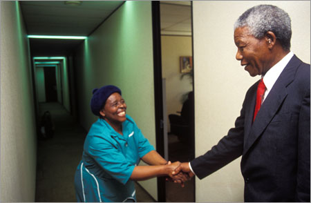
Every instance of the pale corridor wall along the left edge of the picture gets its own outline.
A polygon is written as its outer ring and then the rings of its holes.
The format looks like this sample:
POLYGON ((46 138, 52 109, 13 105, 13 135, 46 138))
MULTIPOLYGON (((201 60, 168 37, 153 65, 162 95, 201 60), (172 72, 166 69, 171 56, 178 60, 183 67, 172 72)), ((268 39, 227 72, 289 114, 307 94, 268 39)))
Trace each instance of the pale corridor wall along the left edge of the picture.
POLYGON ((18 1, 1 1, 0 101, 0 202, 35 202, 35 108, 29 42, 18 1))

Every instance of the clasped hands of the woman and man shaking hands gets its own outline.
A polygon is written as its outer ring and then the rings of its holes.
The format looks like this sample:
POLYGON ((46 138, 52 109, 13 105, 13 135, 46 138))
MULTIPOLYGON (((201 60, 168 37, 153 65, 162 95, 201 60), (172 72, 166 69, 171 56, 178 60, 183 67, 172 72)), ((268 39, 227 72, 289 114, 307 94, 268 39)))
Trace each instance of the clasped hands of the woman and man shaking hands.
POLYGON ((191 177, 194 177, 194 173, 190 170, 188 162, 167 162, 167 165, 170 166, 167 181, 179 183, 182 187, 184 187, 185 182, 187 180, 191 180, 191 177))

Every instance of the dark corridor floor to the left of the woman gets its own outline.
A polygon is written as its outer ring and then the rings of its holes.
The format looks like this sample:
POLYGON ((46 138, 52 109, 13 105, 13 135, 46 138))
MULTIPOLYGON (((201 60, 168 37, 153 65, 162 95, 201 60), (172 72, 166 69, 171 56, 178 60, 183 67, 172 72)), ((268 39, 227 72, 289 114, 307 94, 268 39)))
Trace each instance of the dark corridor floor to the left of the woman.
POLYGON ((59 103, 40 103, 55 124, 53 138, 37 142, 36 202, 76 202, 73 177, 86 132, 59 103))

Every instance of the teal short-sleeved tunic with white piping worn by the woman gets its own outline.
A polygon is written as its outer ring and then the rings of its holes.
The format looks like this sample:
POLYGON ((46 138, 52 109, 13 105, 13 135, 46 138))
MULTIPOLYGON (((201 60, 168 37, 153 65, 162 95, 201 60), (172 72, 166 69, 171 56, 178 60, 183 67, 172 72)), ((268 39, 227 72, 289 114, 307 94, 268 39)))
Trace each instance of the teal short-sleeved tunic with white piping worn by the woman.
POLYGON ((104 119, 91 126, 75 173, 78 202, 136 202, 135 185, 129 177, 154 148, 129 115, 122 123, 122 133, 104 119))

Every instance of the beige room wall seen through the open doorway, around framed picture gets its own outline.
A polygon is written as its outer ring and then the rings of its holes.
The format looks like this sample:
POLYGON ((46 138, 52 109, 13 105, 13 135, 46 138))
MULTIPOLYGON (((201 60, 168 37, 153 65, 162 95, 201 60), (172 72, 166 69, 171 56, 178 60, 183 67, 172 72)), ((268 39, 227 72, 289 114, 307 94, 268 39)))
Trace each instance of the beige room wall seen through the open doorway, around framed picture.
MULTIPOLYGON (((166 81, 167 116, 181 111, 181 97, 192 90, 192 79, 188 76, 180 79, 181 56, 192 56, 192 37, 161 36, 162 77, 166 81)), ((167 117, 169 126, 169 118, 167 117)))

